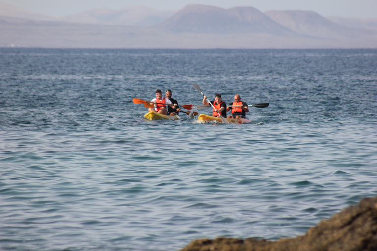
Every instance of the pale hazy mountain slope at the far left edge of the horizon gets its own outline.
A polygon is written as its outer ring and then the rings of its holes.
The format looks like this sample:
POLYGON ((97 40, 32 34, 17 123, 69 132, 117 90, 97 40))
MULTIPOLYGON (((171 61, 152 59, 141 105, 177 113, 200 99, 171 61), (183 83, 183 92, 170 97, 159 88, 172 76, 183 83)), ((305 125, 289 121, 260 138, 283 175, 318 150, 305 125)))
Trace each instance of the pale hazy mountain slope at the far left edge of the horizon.
POLYGON ((31 20, 54 21, 56 17, 38 14, 0 2, 0 16, 31 20))

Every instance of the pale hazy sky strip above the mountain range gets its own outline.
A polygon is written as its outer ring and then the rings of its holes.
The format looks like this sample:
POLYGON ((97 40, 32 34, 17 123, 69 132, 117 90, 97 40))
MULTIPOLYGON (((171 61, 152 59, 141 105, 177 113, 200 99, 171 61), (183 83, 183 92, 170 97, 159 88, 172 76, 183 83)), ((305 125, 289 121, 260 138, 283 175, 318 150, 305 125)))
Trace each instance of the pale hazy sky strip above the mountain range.
POLYGON ((377 0, 0 0, 0 2, 52 16, 66 16, 103 7, 117 10, 140 5, 157 10, 178 10, 188 4, 203 4, 221 8, 251 6, 262 12, 310 10, 322 16, 377 17, 377 0))

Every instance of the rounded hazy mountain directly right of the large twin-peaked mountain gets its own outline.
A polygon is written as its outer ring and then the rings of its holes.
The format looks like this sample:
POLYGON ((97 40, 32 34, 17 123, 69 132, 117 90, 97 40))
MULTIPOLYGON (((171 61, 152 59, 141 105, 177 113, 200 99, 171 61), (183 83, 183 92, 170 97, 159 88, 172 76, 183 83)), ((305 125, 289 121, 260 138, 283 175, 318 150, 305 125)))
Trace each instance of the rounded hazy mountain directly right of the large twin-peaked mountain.
POLYGON ((363 30, 338 25, 313 11, 267 11, 265 14, 276 23, 308 36, 319 38, 358 37, 368 33, 363 30))

